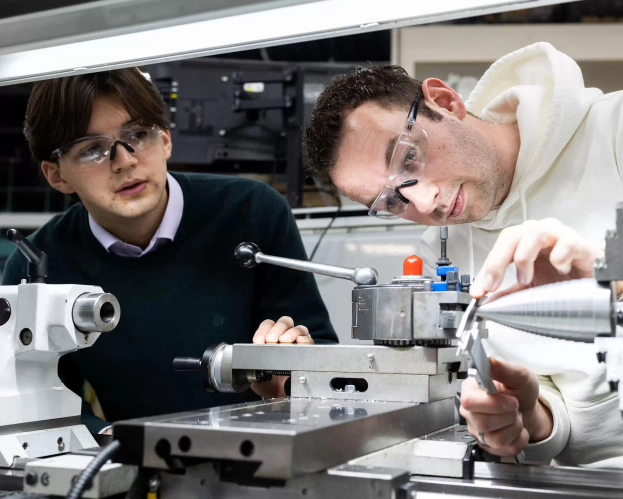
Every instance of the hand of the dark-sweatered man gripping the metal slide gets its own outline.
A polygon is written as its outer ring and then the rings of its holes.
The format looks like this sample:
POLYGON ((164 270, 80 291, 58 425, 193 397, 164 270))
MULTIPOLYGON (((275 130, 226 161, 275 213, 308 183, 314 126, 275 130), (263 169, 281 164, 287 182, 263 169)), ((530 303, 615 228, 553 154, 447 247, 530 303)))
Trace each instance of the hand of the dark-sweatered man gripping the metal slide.
MULTIPOLYGON (((277 322, 269 319, 260 324, 253 336, 253 343, 298 343, 301 345, 313 345, 314 340, 309 335, 309 329, 305 326, 294 326, 291 317, 284 316, 277 322)), ((273 376, 270 381, 253 383, 251 389, 260 397, 278 398, 285 397, 284 385, 289 376, 273 376)))

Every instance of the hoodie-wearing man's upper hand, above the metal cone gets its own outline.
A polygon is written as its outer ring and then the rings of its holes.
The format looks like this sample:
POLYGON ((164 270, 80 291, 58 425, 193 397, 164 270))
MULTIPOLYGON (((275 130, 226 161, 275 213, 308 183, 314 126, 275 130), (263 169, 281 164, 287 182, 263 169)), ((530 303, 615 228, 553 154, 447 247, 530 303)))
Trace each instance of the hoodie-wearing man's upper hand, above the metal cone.
POLYGON ((504 229, 471 287, 474 298, 497 291, 506 269, 517 267, 518 283, 507 294, 558 281, 593 277, 603 250, 554 218, 529 220, 504 229))

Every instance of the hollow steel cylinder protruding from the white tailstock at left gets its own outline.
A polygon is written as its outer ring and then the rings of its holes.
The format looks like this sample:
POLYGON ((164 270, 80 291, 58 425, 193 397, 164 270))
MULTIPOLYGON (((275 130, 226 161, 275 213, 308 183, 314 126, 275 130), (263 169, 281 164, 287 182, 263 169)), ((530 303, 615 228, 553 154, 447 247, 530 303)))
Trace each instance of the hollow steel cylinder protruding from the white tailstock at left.
POLYGON ((121 306, 110 293, 85 293, 74 302, 74 325, 85 333, 107 333, 119 324, 121 306))

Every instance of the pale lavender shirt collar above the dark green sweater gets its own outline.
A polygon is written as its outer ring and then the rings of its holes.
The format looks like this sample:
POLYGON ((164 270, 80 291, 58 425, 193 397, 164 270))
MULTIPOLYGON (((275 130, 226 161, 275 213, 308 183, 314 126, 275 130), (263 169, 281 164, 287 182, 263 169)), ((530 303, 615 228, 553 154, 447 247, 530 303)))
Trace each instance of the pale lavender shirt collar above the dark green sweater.
POLYGON ((170 173, 167 173, 167 182, 169 185, 167 209, 164 212, 164 217, 162 217, 162 222, 160 222, 158 230, 145 249, 141 249, 133 244, 124 243, 118 237, 113 236, 104 229, 104 227, 98 224, 89 213, 89 227, 91 227, 91 232, 106 251, 118 256, 140 258, 147 253, 151 253, 162 244, 175 239, 175 234, 180 226, 182 213, 184 212, 184 195, 180 184, 170 173))

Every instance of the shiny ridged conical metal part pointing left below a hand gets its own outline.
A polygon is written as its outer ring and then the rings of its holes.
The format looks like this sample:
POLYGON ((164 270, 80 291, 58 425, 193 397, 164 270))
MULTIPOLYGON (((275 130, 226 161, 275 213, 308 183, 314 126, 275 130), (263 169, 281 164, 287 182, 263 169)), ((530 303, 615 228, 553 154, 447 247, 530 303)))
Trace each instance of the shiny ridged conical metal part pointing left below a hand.
POLYGON ((548 284, 481 305, 476 315, 552 338, 592 342, 615 334, 613 293, 594 279, 548 284))

